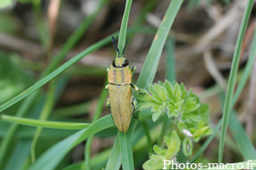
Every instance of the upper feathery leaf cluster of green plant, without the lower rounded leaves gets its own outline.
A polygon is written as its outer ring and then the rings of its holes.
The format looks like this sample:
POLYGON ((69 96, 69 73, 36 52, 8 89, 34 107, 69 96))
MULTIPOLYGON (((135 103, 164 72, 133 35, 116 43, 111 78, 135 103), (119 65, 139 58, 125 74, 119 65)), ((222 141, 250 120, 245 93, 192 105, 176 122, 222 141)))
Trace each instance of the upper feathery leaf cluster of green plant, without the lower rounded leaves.
MULTIPOLYGON (((155 122, 163 114, 168 117, 175 117, 179 123, 181 131, 183 129, 190 129, 192 133, 198 133, 194 129, 201 129, 208 126, 207 116, 208 106, 201 104, 199 98, 192 93, 186 91, 183 84, 174 85, 171 82, 159 82, 148 84, 149 90, 141 89, 144 95, 135 94, 138 101, 138 109, 143 110, 151 108, 153 112, 152 119, 155 122)), ((208 135, 210 132, 204 132, 208 135)), ((200 138, 199 138, 200 139, 200 138)), ((196 140, 198 141, 198 134, 196 140)))

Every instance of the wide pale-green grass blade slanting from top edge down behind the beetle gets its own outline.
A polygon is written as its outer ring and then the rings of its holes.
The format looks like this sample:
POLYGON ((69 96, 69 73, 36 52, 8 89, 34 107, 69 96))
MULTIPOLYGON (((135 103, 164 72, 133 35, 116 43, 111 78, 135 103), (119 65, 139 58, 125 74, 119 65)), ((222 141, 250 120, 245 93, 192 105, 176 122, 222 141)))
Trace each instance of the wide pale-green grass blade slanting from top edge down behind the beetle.
MULTIPOLYGON (((155 72, 158 67, 158 63, 160 60, 160 55, 162 53, 162 50, 164 48, 166 38, 168 36, 168 33, 171 29, 173 20, 175 19, 177 15, 178 9, 181 7, 181 4, 183 3, 183 0, 180 1, 172 1, 166 11, 165 17, 160 25, 160 28, 158 29, 154 42, 152 43, 149 51, 148 56, 144 62, 143 70, 141 71, 141 74, 138 78, 137 85, 140 88, 147 88, 148 83, 152 83, 154 79, 155 72)), ((137 126, 137 120, 132 119, 130 129, 128 133, 133 133, 135 127, 137 126)), ((131 135, 131 134, 127 134, 131 135)), ((119 138, 119 135, 117 139, 119 138)), ((109 156, 108 164, 106 167, 106 170, 113 170, 113 169, 119 169, 120 166, 120 153, 119 153, 119 140, 115 141, 113 145, 113 150, 111 152, 111 155, 109 156)))

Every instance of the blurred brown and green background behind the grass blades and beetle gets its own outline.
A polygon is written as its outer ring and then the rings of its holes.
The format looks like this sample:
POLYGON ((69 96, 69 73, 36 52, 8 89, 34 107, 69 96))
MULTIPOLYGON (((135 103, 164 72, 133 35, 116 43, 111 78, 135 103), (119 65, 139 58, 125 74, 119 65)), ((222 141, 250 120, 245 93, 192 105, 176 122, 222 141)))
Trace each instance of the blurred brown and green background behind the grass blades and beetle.
MULTIPOLYGON (((60 50, 63 50, 63 45, 72 37, 74 31, 81 29, 81 25, 87 26, 87 30, 81 31, 83 33, 77 38, 78 41, 72 48, 67 48, 66 54, 63 52, 65 58, 61 63, 104 37, 112 35, 113 32, 119 31, 125 8, 125 1, 120 0, 42 0, 34 3, 23 0, 20 2, 0 9, 0 104, 37 82, 50 61, 59 54, 60 50)), ((130 41, 125 57, 129 59, 131 66, 137 65, 133 80, 135 83, 154 33, 160 26, 169 3, 169 0, 135 0, 132 3, 128 30, 133 29, 133 31, 127 34, 130 41)), ((247 1, 241 0, 184 1, 169 34, 168 39, 172 45, 166 46, 154 78, 154 82, 164 82, 166 74, 170 74, 166 73, 166 50, 167 47, 172 47, 176 59, 177 82, 183 82, 188 89, 192 88, 193 92, 201 97, 202 102, 209 104, 212 127, 222 116, 222 106, 217 93, 227 85, 236 37, 246 4, 247 1)), ((241 78, 250 52, 255 28, 254 15, 255 8, 241 47, 237 81, 241 78)), ((68 77, 65 79, 68 81, 64 81, 63 86, 60 85, 60 94, 56 99, 51 119, 68 119, 70 122, 84 122, 90 119, 104 87, 106 69, 112 63, 115 54, 115 48, 110 40, 107 46, 87 55, 61 74, 63 77, 68 77), (73 111, 73 108, 77 110, 73 111)), ((239 120, 254 144, 255 73, 254 64, 253 76, 235 105, 239 120)), ((47 93, 48 88, 47 85, 44 86, 43 94, 47 93)), ((19 105, 20 102, 3 113, 15 115, 19 105)), ((106 107, 103 112, 110 113, 106 107)), ((1 121, 1 124, 4 125, 0 136, 3 138, 9 123, 1 121)), ((113 144, 113 139, 106 140, 103 142, 100 139, 95 140, 92 153, 113 144)), ((241 161, 240 154, 234 155, 237 151, 232 137, 228 136, 227 140, 230 145, 224 152, 224 161, 241 161)), ((204 140, 201 140, 201 143, 203 142, 204 140)), ((83 158, 83 151, 79 147, 83 147, 83 144, 73 150, 73 153, 81 152, 80 155, 71 156, 73 161, 83 158)), ((217 155, 218 137, 215 141, 213 139, 205 152, 206 158, 210 161, 217 161, 217 155)))

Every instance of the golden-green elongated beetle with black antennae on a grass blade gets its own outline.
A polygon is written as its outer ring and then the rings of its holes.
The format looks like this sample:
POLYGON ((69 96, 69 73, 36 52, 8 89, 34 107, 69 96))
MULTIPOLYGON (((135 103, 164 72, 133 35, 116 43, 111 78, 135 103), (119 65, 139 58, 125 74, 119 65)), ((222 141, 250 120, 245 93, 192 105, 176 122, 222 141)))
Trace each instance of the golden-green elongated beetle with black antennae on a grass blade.
MULTIPOLYGON (((119 54, 114 39, 113 45, 119 54)), ((127 38, 125 47, 129 38, 127 38)), ((125 48, 122 55, 113 59, 112 65, 107 69, 108 71, 108 85, 105 87, 108 90, 109 98, 107 106, 111 109, 113 122, 118 127, 121 133, 126 133, 130 123, 131 116, 137 111, 137 101, 132 96, 131 88, 139 92, 139 88, 131 83, 132 74, 136 71, 137 66, 132 69, 127 59, 125 59, 125 48)))

